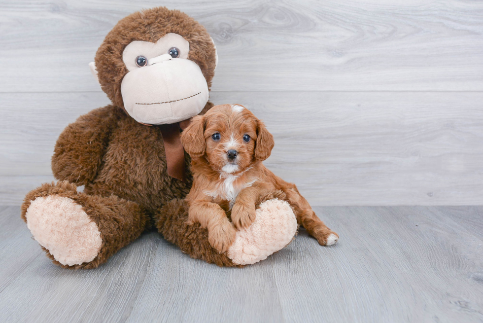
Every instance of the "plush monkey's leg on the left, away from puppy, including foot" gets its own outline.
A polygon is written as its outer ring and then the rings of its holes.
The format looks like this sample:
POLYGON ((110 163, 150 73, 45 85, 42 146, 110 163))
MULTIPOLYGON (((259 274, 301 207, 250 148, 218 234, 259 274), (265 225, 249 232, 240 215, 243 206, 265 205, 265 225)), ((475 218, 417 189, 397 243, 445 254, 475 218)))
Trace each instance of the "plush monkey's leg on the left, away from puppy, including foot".
POLYGON ((22 219, 55 264, 96 268, 149 225, 138 204, 79 193, 68 181, 45 183, 25 197, 22 219))

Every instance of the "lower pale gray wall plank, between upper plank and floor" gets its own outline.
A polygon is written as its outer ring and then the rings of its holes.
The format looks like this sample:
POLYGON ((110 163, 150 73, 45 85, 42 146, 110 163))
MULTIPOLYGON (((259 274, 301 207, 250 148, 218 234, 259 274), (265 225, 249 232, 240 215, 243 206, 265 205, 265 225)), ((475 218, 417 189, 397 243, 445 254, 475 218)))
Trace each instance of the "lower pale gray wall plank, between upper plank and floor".
MULTIPOLYGON (((0 94, 0 201, 52 180, 60 132, 104 93, 0 94), (19 118, 19 116, 22 116, 19 118)), ((483 203, 482 92, 213 92, 275 136, 265 162, 312 205, 483 203)))

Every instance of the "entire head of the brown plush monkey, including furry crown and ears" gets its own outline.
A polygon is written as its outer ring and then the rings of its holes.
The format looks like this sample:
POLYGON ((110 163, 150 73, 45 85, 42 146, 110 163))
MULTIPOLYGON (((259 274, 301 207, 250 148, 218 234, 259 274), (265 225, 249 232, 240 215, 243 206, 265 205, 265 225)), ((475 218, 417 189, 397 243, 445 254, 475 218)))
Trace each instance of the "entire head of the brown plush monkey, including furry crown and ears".
POLYGON ((216 62, 202 25, 157 7, 121 19, 89 66, 115 106, 138 122, 167 124, 205 108, 216 62))

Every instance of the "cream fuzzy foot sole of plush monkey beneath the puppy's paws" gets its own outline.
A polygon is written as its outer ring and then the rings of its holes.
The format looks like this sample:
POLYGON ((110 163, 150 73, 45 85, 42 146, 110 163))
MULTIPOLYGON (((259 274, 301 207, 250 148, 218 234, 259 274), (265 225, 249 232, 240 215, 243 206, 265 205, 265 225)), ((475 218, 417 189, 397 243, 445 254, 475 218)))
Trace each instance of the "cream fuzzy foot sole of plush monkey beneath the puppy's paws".
POLYGON ((297 219, 290 205, 273 199, 260 204, 255 221, 237 232, 227 256, 237 265, 251 265, 266 259, 292 241, 297 219))

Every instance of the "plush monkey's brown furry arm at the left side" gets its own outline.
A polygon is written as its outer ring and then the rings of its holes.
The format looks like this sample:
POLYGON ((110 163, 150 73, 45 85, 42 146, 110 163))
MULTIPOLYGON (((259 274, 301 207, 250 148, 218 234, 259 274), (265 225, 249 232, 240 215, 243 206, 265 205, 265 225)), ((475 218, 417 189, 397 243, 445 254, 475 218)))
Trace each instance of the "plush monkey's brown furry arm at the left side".
POLYGON ((113 106, 98 108, 64 129, 52 156, 52 172, 56 179, 85 185, 96 177, 120 112, 113 106))

